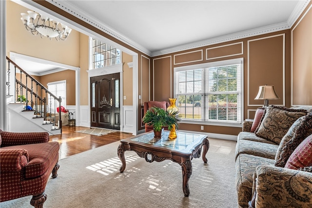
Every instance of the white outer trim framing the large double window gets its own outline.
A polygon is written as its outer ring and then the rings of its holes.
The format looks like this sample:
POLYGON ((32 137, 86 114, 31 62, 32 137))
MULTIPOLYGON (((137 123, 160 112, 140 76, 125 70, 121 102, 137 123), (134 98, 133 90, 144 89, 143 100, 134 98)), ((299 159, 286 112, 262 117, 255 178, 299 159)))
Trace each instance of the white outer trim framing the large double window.
MULTIPOLYGON (((242 122, 244 120, 244 58, 235 58, 235 59, 228 59, 222 61, 215 61, 203 64, 195 64, 195 65, 188 65, 188 66, 180 66, 174 68, 174 75, 176 72, 185 71, 185 70, 194 70, 200 68, 209 68, 209 67, 218 67, 227 64, 233 64, 234 62, 241 63, 241 80, 240 80, 240 89, 241 89, 241 120, 240 123, 232 123, 232 122, 220 122, 220 121, 199 121, 199 120, 192 120, 192 119, 182 119, 181 123, 186 124, 202 124, 202 125, 212 125, 212 126, 227 126, 227 127, 241 127, 242 122)), ((176 76, 174 76, 174 97, 176 97, 176 76)))

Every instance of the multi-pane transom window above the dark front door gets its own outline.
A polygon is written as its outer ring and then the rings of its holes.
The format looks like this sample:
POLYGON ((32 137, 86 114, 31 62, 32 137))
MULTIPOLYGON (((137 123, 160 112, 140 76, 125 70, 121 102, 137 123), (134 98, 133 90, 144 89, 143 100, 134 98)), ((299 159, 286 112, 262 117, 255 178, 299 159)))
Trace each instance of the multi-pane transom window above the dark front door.
POLYGON ((96 38, 90 37, 90 69, 121 63, 121 51, 96 38))

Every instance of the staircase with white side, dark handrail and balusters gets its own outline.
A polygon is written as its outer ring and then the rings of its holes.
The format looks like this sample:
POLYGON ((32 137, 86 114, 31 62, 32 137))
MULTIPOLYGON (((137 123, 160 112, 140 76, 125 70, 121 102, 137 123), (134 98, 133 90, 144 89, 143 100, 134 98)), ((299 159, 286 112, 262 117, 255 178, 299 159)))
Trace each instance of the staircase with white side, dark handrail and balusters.
POLYGON ((55 115, 59 114, 56 109, 57 107, 60 109, 61 98, 50 93, 10 58, 6 57, 6 59, 8 61, 6 82, 7 131, 60 134, 62 132, 61 116, 58 116, 59 120, 56 120, 55 115), (26 106, 33 110, 25 110, 26 106))

